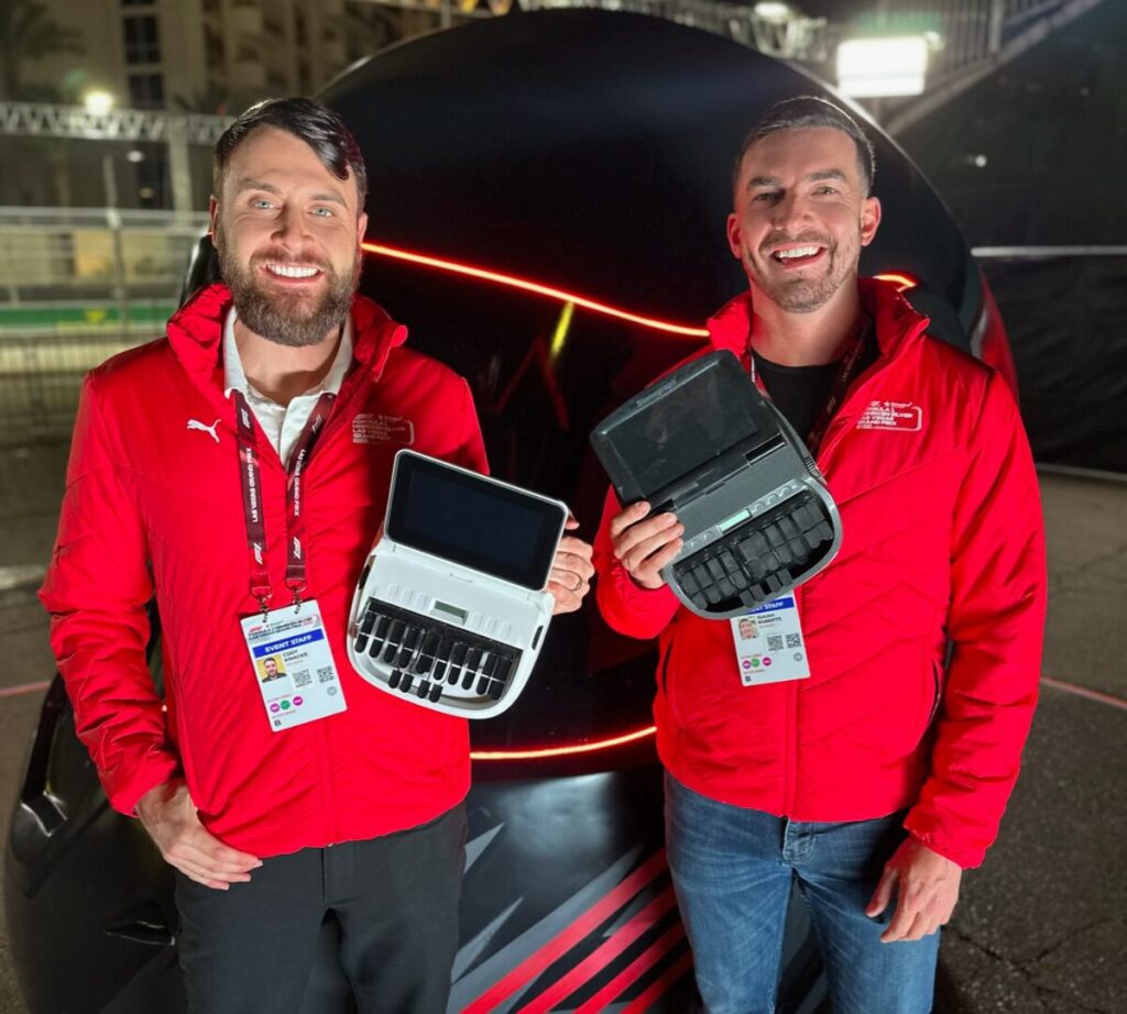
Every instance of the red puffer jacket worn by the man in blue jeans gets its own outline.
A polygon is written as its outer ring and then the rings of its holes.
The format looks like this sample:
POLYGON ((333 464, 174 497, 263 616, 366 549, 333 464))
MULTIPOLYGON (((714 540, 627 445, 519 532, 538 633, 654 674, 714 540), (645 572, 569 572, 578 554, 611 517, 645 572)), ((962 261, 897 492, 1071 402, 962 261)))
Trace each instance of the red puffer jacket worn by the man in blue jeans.
MULTIPOLYGON (((929 338, 891 286, 862 279, 861 296, 879 356, 818 454, 844 537, 797 592, 810 677, 745 688, 727 622, 640 588, 614 560, 613 493, 595 544, 598 604, 616 630, 660 635, 658 750, 685 785, 796 820, 911 808, 913 835, 974 866, 1037 701, 1037 477, 1001 377, 929 338)), ((745 363, 749 313, 744 295, 709 322, 713 347, 745 363)))

